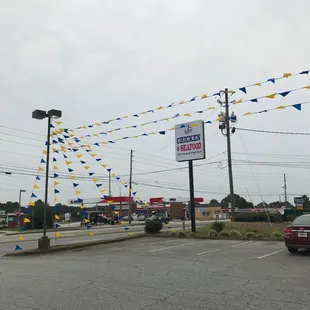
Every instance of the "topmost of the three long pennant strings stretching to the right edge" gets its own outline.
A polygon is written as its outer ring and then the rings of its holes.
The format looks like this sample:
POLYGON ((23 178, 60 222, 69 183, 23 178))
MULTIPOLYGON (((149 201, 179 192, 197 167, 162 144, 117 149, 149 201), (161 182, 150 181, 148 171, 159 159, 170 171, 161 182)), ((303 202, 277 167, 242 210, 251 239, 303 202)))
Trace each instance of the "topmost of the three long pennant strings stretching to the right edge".
MULTIPOLYGON (((286 79, 286 78, 290 78, 293 76, 298 76, 298 75, 308 75, 310 70, 303 70, 301 72, 297 72, 297 73, 290 73, 290 72, 286 72, 283 73, 282 76, 279 77, 272 77, 272 78, 268 78, 267 80, 263 80, 261 82, 257 82, 257 83, 253 83, 253 84, 249 84, 246 86, 242 86, 242 87, 238 87, 236 89, 231 90, 230 92, 235 92, 235 91, 240 91, 242 93, 247 94, 248 93, 248 89, 251 87, 255 87, 255 86, 262 86, 266 83, 272 83, 275 84, 276 81, 282 80, 282 79, 286 79)), ((121 116, 121 117, 116 117, 116 118, 112 118, 110 120, 107 121, 102 121, 102 122, 97 122, 97 123, 93 123, 90 125, 86 125, 86 126, 79 126, 76 128, 72 128, 73 130, 79 130, 79 129, 90 129, 90 128, 94 128, 94 127, 101 127, 103 125, 108 125, 112 122, 117 122, 117 121, 123 121, 123 120, 127 120, 128 118, 138 118, 140 116, 143 115, 149 115, 149 114, 154 114, 157 111, 160 110, 164 110, 164 109, 169 109, 175 106, 179 106, 179 105, 183 105, 183 104, 187 104, 187 103, 193 103, 193 102, 197 102, 199 100, 203 100, 203 99, 207 99, 207 98, 211 98, 211 97, 216 97, 216 96, 220 96, 221 92, 216 92, 213 93, 212 95, 207 95, 207 93, 204 93, 202 95, 196 95, 196 96, 192 96, 190 97, 190 99, 188 100, 181 100, 181 101, 177 101, 177 102, 172 102, 167 106, 159 106, 156 109, 150 109, 150 110, 146 110, 146 111, 142 111, 142 112, 138 112, 138 113, 134 113, 132 115, 125 115, 125 116, 121 116)), ((68 130, 70 130, 70 128, 67 128, 68 130)))

